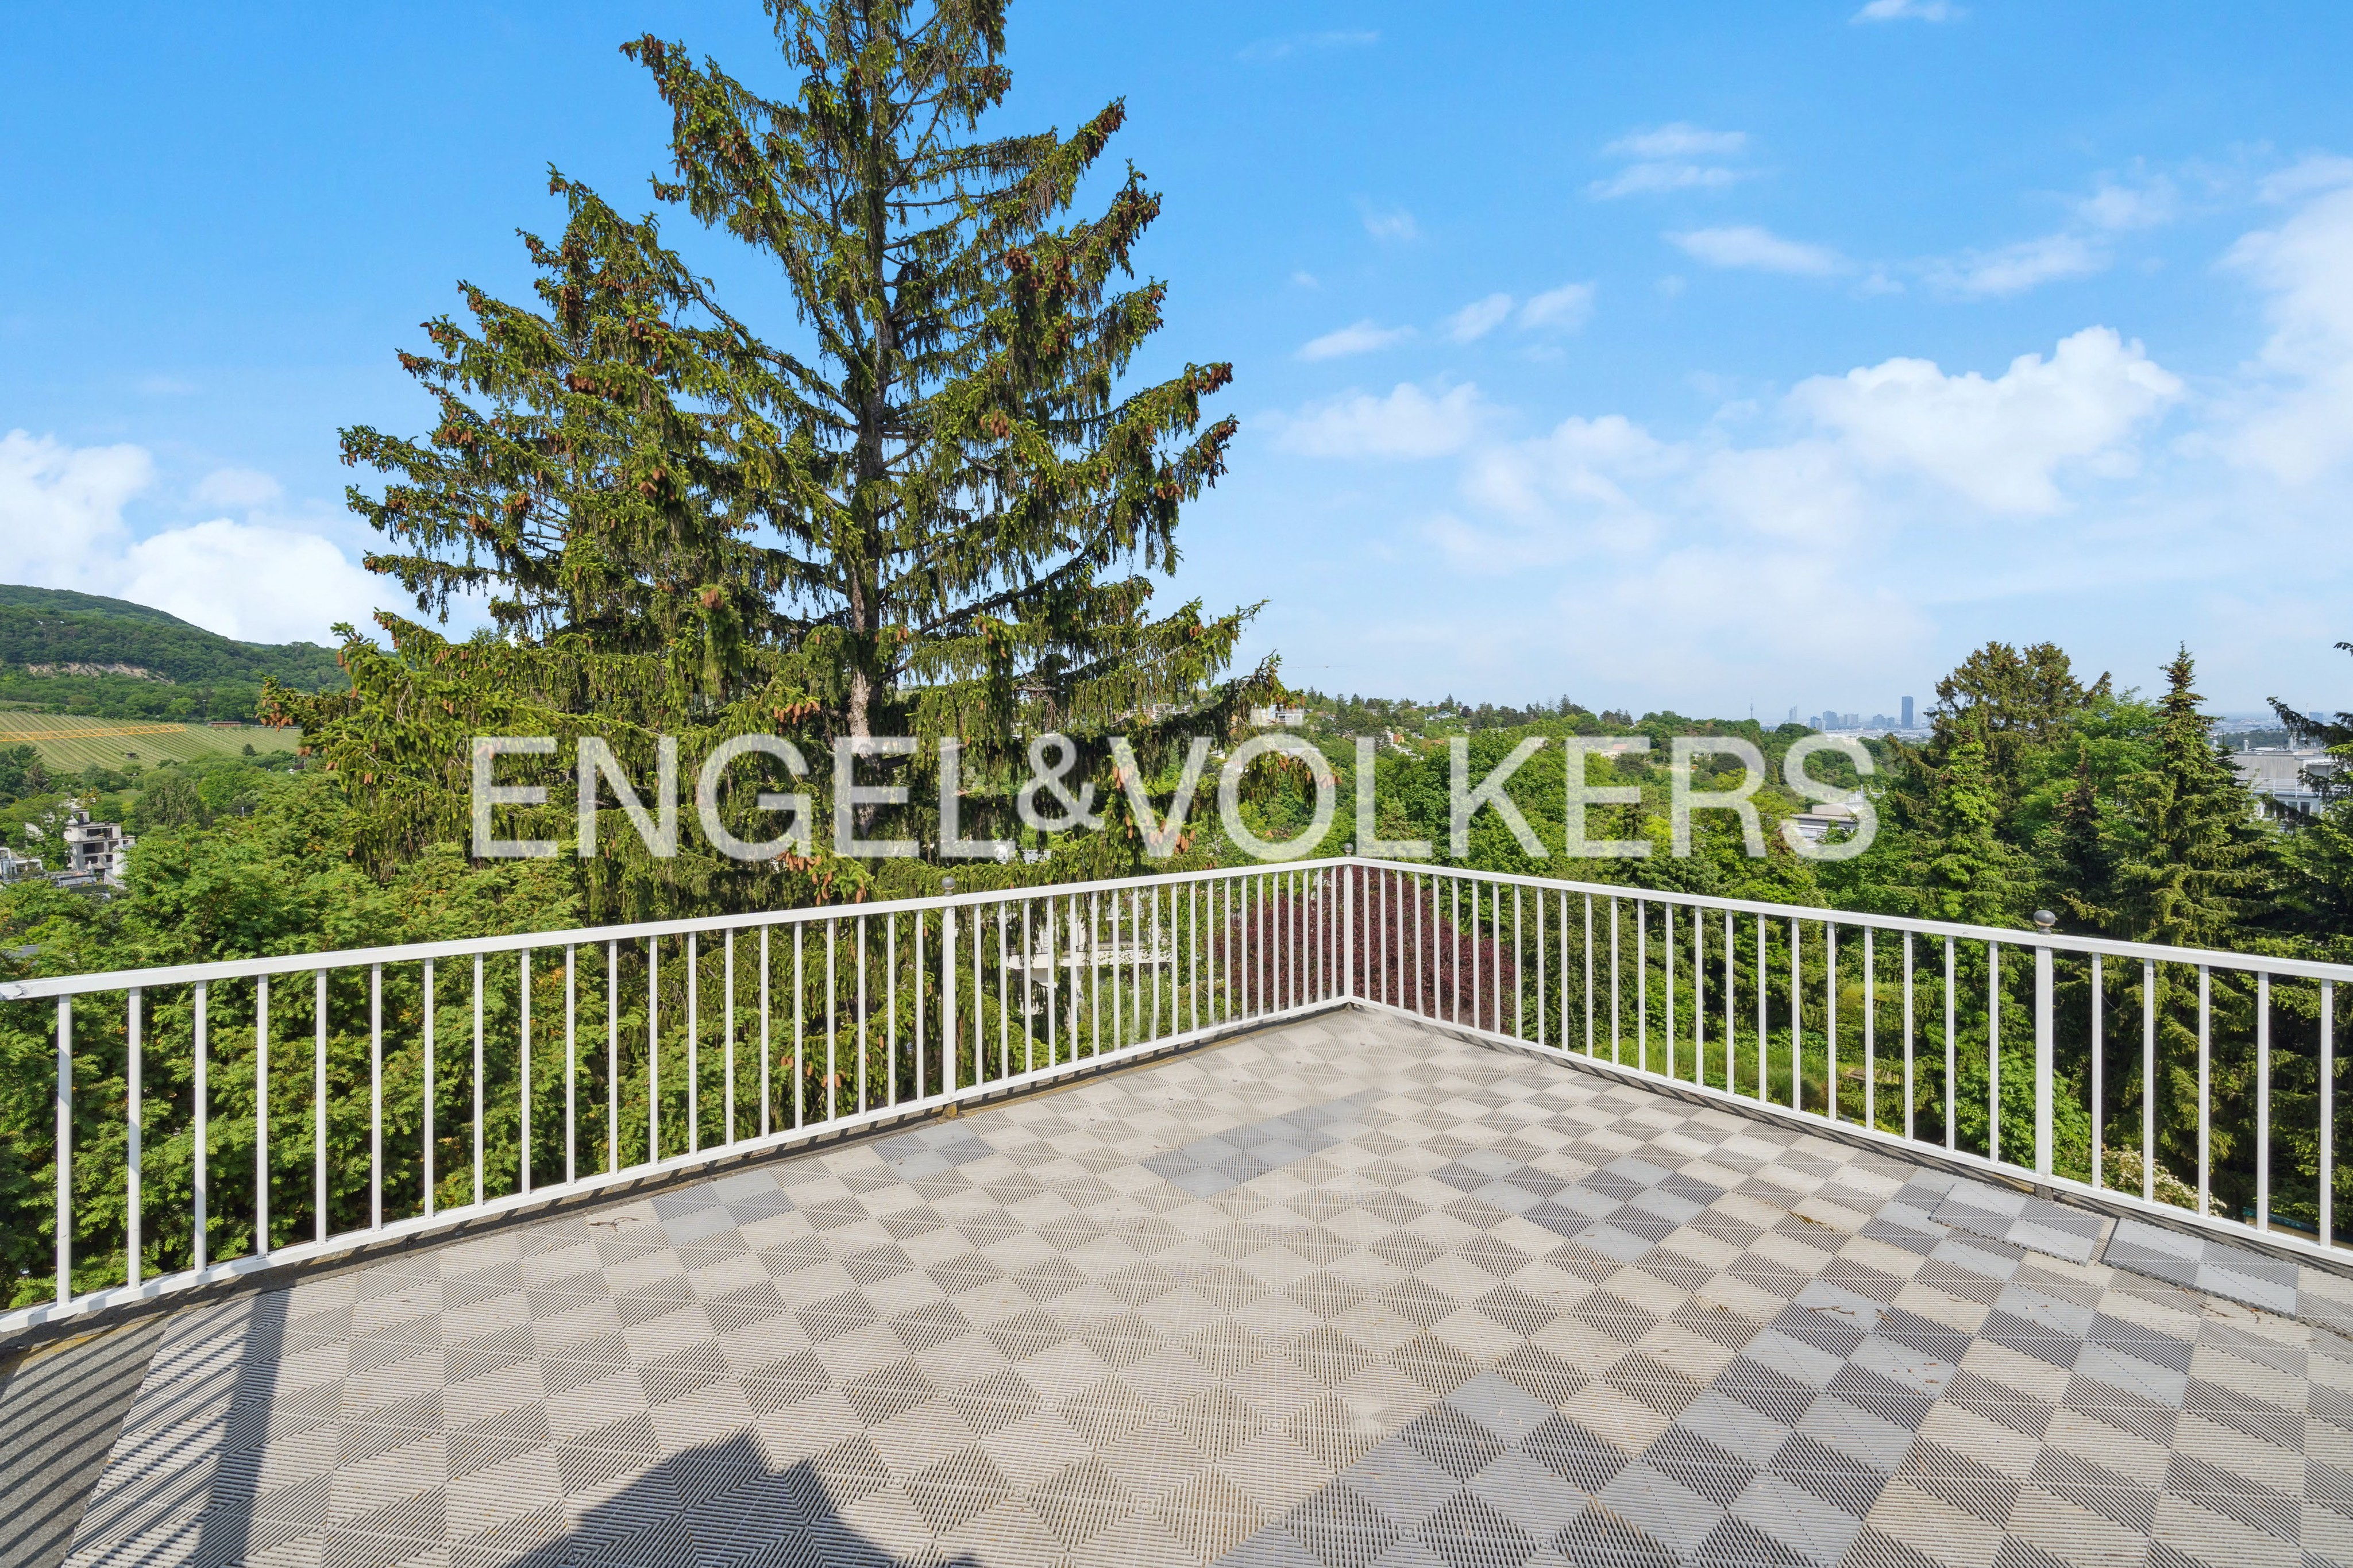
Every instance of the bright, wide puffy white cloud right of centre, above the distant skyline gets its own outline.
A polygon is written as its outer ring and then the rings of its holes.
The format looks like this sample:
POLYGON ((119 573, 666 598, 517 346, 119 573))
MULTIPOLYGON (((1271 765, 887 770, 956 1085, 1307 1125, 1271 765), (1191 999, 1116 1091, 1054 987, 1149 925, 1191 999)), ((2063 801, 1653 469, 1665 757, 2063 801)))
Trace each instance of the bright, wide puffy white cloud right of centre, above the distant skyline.
POLYGON ((1925 475, 1991 512, 2054 512, 2057 470, 2125 473, 2127 437, 2181 397, 2181 378, 2108 327, 2019 355, 1988 381, 1929 360, 1885 360, 1800 381, 1788 407, 1864 468, 1925 475))

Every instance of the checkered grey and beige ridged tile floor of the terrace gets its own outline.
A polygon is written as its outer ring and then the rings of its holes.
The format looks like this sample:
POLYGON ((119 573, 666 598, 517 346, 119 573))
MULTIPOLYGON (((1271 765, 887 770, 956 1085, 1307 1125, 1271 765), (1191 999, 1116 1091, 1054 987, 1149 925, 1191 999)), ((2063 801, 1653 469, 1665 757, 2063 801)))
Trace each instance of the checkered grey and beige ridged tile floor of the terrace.
POLYGON ((1979 1187, 1334 1013, 186 1309, 71 1561, 2353 1561, 2353 1340, 1979 1187))

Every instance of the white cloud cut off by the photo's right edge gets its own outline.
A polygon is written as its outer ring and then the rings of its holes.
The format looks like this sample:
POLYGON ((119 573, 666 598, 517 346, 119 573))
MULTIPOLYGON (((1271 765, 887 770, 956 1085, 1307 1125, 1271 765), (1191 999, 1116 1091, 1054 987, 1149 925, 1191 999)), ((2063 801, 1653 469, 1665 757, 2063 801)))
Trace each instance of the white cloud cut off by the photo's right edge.
POLYGON ((2353 456, 2353 188, 2327 190, 2224 266, 2268 294, 2271 336, 2231 409, 2221 449, 2289 484, 2353 456))

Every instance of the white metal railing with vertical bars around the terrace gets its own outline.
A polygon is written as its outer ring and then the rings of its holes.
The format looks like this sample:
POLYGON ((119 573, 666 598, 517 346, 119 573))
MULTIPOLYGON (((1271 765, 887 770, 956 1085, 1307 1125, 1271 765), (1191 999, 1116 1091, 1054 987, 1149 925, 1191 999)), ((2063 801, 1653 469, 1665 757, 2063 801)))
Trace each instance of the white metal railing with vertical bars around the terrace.
POLYGON ((1348 858, 19 980, 54 1274, 0 1333, 1346 1001, 2318 1251, 2348 978, 1348 858))

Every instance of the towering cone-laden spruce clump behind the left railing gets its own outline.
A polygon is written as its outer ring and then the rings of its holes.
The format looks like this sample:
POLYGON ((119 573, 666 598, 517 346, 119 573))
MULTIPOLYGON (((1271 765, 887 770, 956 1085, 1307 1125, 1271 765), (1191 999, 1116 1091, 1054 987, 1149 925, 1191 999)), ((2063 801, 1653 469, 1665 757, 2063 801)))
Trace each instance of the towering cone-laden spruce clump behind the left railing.
MULTIPOLYGON (((1179 508, 1235 425, 1200 423, 1226 364, 1125 386, 1160 324, 1165 284, 1127 282, 1160 202, 1129 167, 1099 216, 1068 219, 1125 108, 984 136, 1009 85, 1005 0, 769 12, 788 96, 680 45, 624 49, 673 110, 656 195, 774 263, 795 322, 755 327, 654 219, 555 176, 565 235, 525 237, 539 308, 461 287, 471 324, 438 317, 438 357, 402 355, 433 430, 346 433, 346 461, 391 475, 353 489, 395 545, 367 564, 424 611, 485 595, 499 630, 449 644, 381 616, 391 649, 344 649, 351 693, 271 691, 379 809, 379 858, 461 832, 471 733, 602 733, 647 783, 659 733, 689 771, 744 729, 812 750, 960 736, 967 769, 995 769, 979 816, 1002 825, 1024 733, 1075 733, 1085 773, 1118 726, 1151 766, 1273 686, 1271 663, 1221 679, 1247 609, 1153 614, 1179 508)), ((722 816, 788 788, 762 766, 739 769, 722 816)), ((551 783, 539 818, 560 832, 572 802, 551 783)), ((934 839, 922 806, 906 816, 934 839)), ((593 905, 779 896, 729 896, 736 867, 682 860, 591 872, 612 884, 593 905)))

